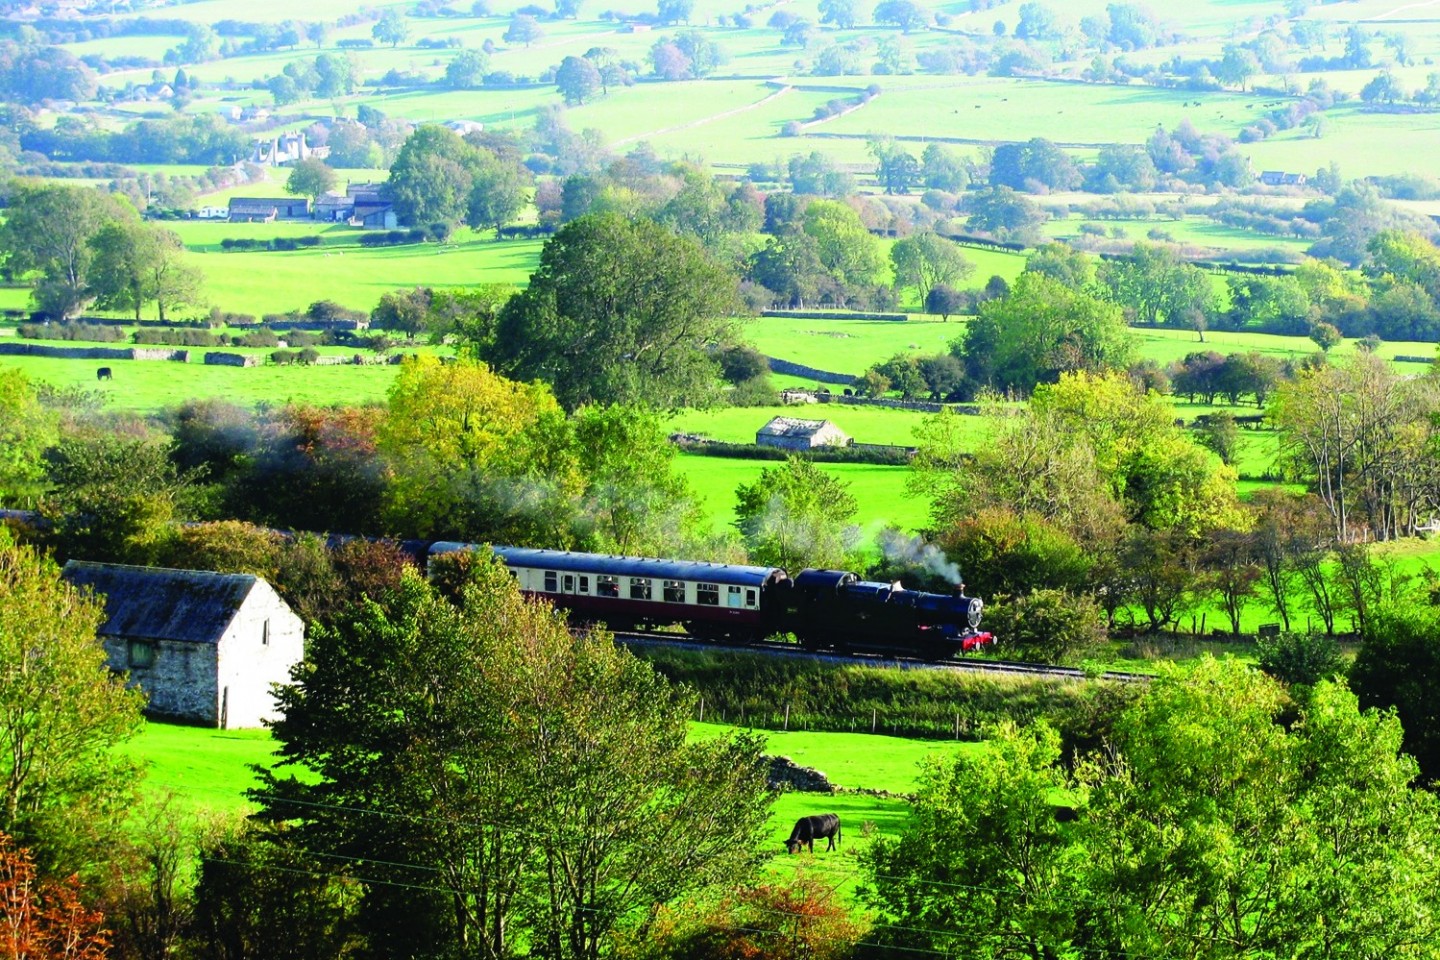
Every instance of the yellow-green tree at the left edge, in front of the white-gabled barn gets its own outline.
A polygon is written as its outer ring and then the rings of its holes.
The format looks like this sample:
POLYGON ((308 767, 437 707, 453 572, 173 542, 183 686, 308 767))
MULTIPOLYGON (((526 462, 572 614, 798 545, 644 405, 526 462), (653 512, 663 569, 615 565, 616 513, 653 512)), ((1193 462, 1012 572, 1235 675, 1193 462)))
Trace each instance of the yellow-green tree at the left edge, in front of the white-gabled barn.
POLYGON ((135 797, 140 771, 118 746, 138 731, 144 698, 95 639, 101 600, 7 534, 0 594, 0 830, 42 875, 95 868, 135 797))

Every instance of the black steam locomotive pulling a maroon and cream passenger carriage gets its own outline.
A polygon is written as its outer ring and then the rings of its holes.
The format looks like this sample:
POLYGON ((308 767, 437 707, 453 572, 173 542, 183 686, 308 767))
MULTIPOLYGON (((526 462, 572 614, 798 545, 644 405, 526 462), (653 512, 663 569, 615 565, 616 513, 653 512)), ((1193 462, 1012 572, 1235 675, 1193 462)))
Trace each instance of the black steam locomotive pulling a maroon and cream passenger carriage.
MULTIPOLYGON (((428 557, 480 544, 438 541, 428 557)), ((700 639, 752 642, 791 633, 805 649, 952 659, 994 646, 985 604, 963 593, 906 590, 847 570, 615 557, 491 547, 520 589, 612 630, 681 626, 700 639)))

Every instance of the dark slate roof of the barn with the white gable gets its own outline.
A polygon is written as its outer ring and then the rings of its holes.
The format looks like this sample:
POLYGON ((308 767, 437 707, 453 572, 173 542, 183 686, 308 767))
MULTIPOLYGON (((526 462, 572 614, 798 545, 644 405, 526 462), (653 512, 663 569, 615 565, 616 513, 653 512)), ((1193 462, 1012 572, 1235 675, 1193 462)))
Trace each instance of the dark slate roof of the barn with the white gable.
POLYGON ((62 574, 105 597, 102 636, 217 643, 259 577, 71 560, 62 574))

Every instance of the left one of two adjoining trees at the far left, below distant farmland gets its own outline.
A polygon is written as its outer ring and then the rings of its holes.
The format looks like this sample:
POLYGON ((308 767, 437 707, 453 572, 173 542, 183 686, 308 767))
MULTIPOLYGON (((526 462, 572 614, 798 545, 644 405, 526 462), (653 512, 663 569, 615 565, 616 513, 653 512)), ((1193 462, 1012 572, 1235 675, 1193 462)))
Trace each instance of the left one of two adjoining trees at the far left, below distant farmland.
POLYGON ((99 190, 19 184, 0 226, 0 252, 13 276, 35 276, 36 307, 69 320, 92 299, 91 237, 107 223, 135 219, 128 203, 99 190))

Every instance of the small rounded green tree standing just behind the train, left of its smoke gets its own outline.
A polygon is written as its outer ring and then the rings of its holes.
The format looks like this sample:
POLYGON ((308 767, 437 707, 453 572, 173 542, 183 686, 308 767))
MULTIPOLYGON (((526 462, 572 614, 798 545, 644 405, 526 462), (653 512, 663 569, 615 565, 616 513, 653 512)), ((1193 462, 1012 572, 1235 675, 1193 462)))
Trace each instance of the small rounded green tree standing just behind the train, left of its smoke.
POLYGON ((736 527, 752 561, 792 571, 850 566, 858 537, 848 525, 855 498, 850 484, 814 461, 791 456, 768 466, 755 482, 736 488, 736 527))

